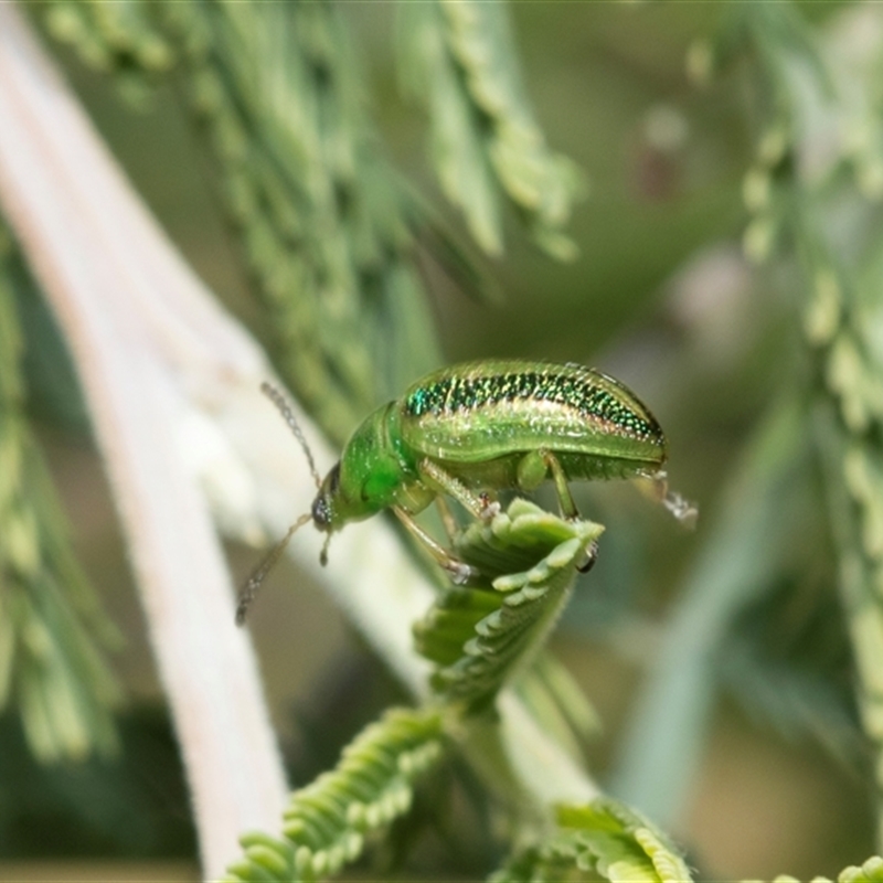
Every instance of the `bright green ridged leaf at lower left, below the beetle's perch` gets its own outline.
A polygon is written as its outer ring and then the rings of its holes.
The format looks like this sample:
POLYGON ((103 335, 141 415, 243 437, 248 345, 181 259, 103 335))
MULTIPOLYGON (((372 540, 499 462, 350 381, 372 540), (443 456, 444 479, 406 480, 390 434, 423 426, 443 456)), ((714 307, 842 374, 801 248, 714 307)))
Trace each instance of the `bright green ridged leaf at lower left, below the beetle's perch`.
POLYGON ((442 755, 437 711, 393 709, 353 740, 337 767, 295 791, 283 837, 246 833, 238 881, 311 881, 338 873, 362 853, 368 834, 411 808, 413 787, 442 755))

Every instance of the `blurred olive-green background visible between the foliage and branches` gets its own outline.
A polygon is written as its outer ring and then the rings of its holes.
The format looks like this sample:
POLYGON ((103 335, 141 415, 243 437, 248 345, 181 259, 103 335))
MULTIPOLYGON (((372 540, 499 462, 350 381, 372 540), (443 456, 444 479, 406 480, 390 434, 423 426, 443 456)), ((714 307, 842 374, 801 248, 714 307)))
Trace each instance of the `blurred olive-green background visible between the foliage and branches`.
MULTIPOLYGON (((341 4, 369 72, 384 150, 443 206, 426 159, 425 118, 396 87, 393 6, 341 4)), ((715 518, 724 479, 777 374, 801 358, 791 280, 756 272, 742 257, 741 188, 755 135, 743 85, 726 81, 701 91, 685 75, 689 45, 714 31, 727 6, 512 3, 536 116, 550 145, 588 178, 588 198, 568 227, 579 257, 550 259, 514 221, 506 255, 480 257, 458 213, 447 208, 449 227, 460 231, 499 301, 471 299, 430 262, 424 267, 448 360, 577 361, 615 374, 666 428, 673 487, 699 501, 699 531, 689 533, 627 486, 579 489, 583 511, 607 533, 554 647, 598 711, 603 730, 587 753, 602 783, 659 625, 715 518)), ((806 3, 802 11, 825 26, 839 6, 806 3)), ((180 86, 161 84, 146 107, 132 110, 109 79, 85 71, 67 50, 53 51, 169 235, 228 308, 255 322, 215 169, 180 86)), ((0 859, 15 862, 0 865, 0 879, 28 873, 21 862, 50 857, 187 860, 194 852, 173 737, 100 464, 82 426, 58 418, 50 385, 40 386, 46 360, 35 351, 46 340, 43 321, 36 310, 25 316, 30 376, 43 405, 41 438, 81 560, 126 636, 115 656, 128 695, 125 753, 117 764, 41 768, 28 756, 14 717, 0 720, 0 859)), ((795 556, 823 558, 823 539, 806 542, 795 556)), ((237 577, 253 560, 252 552, 231 549, 237 577)), ((832 565, 822 561, 818 578, 830 583, 832 565)), ((292 780, 302 783, 332 762, 396 688, 292 566, 280 566, 269 583, 252 628, 292 780)), ((865 776, 861 764, 838 764, 818 744, 787 740, 752 720, 743 703, 724 699, 673 833, 709 877, 834 875, 873 851, 865 776)), ((480 862, 480 845, 468 837, 462 842, 467 859, 480 862)), ((465 866, 466 860, 453 863, 450 876, 467 873, 465 866)))

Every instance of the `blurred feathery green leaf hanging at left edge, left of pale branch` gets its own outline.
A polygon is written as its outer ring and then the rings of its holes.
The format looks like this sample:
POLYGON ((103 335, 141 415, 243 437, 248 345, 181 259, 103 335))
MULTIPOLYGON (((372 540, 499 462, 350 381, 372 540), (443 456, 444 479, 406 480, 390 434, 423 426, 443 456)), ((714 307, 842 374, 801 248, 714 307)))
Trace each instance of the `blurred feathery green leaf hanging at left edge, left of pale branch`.
POLYGON ((17 706, 39 759, 82 759, 117 745, 119 690, 100 648, 118 639, 71 550, 24 416, 14 270, 0 243, 0 709, 17 706))

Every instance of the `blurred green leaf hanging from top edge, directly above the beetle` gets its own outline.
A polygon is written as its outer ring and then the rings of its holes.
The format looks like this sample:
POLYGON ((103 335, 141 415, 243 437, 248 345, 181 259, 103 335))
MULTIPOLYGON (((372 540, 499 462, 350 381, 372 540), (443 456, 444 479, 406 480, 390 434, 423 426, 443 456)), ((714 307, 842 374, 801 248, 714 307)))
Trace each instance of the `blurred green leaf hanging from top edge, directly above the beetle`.
POLYGON ((508 201, 541 248, 575 257, 561 231, 581 177, 549 149, 533 118, 504 4, 432 0, 397 11, 402 83, 428 108, 436 173, 476 242, 502 253, 508 201))

